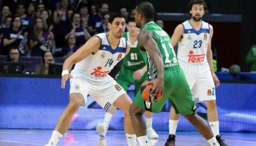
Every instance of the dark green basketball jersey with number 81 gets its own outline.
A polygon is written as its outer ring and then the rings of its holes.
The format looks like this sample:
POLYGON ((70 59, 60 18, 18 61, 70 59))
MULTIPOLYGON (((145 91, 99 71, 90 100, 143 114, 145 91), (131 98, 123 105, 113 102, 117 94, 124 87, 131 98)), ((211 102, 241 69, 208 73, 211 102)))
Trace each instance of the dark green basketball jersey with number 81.
MULTIPOLYGON (((125 37, 126 40, 130 42, 129 32, 125 32, 123 37, 125 37)), ((145 63, 146 58, 147 58, 147 53, 145 53, 145 51, 140 50, 140 46, 138 45, 138 41, 137 41, 135 44, 131 44, 131 50, 125 56, 122 67, 130 69, 132 71, 142 69, 142 67, 146 65, 145 63)))

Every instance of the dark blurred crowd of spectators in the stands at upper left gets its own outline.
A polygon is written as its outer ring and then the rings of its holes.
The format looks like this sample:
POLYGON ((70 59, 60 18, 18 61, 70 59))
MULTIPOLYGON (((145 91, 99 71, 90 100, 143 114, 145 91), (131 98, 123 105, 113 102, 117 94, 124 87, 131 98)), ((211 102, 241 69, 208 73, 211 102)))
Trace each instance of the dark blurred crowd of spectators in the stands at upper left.
MULTIPOLYGON (((109 5, 90 0, 1 1, 0 55, 18 48, 22 56, 68 57, 91 36, 107 32, 109 5)), ((126 20, 134 10, 120 6, 126 20)))

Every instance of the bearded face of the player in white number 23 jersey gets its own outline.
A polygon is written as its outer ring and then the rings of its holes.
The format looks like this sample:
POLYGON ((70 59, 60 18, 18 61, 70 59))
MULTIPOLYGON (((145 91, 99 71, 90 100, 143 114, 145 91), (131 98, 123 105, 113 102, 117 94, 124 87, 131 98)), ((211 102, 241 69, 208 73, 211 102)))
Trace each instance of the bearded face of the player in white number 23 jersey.
POLYGON ((203 4, 194 4, 192 6, 192 10, 189 11, 191 13, 191 17, 195 21, 200 21, 205 14, 205 10, 203 8, 203 4))

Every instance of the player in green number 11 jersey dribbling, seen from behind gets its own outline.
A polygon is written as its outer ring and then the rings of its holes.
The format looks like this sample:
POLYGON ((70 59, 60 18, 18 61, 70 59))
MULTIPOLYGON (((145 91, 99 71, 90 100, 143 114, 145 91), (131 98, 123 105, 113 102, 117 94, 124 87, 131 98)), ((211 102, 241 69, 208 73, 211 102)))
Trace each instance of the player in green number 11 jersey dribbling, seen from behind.
MULTIPOLYGON (((154 7, 151 3, 142 2, 135 8, 135 22, 142 28, 137 36, 142 50, 149 54, 148 70, 149 83, 154 84, 151 95, 163 95, 158 102, 145 102, 140 91, 135 96, 130 107, 131 123, 141 146, 149 145, 146 127, 142 114, 147 111, 161 112, 161 109, 170 100, 175 112, 182 114, 198 129, 210 145, 219 146, 210 126, 196 114, 196 105, 189 90, 183 70, 175 57, 170 36, 154 23, 154 7)), ((167 144, 168 146, 168 144, 167 144)))

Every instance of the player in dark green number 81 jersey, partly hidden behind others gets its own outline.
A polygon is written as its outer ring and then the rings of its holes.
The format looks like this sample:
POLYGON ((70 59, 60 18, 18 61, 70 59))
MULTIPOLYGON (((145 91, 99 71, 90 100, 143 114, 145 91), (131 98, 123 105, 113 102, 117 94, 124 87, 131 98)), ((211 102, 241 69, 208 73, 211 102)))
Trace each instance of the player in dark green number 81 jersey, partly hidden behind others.
MULTIPOLYGON (((125 91, 128 91, 131 84, 134 84, 134 95, 137 95, 141 84, 148 79, 146 65, 147 53, 140 50, 137 41, 139 30, 140 29, 136 27, 135 18, 131 18, 128 22, 128 32, 125 32, 123 36, 131 43, 131 50, 128 55, 125 56, 121 70, 116 78, 116 82, 120 84, 125 91)), ((104 137, 106 135, 109 122, 114 112, 116 112, 116 107, 109 108, 105 114, 104 122, 98 124, 96 129, 100 136, 104 137)), ((152 128, 152 112, 145 112, 145 117, 148 138, 157 139, 158 134, 156 134, 156 131, 152 128)))

